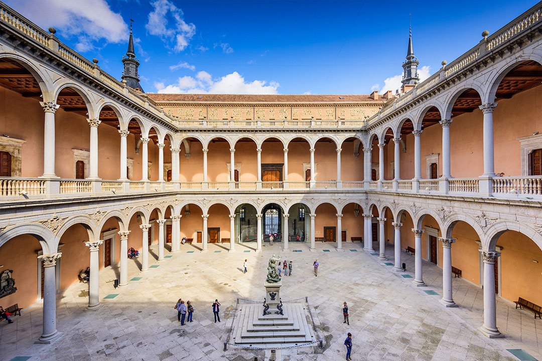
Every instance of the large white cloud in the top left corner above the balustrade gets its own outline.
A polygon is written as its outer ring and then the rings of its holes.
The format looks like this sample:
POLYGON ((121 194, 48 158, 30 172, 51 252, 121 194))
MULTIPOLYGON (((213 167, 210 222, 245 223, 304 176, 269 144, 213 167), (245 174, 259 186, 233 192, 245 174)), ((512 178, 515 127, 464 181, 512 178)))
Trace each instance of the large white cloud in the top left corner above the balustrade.
MULTIPOLYGON (((10 0, 7 3, 44 29, 54 27, 57 36, 75 37, 75 50, 96 48, 96 42, 120 43, 128 26, 105 0, 10 0)), ((103 45, 103 44, 100 44, 103 45)))

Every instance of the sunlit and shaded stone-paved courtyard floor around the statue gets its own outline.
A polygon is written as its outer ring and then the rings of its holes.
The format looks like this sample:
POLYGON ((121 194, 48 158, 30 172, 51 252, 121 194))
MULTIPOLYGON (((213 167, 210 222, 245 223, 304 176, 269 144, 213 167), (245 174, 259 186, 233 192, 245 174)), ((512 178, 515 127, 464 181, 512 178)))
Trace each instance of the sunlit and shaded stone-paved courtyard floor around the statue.
MULTIPOLYGON (((542 360, 542 321, 531 313, 515 310, 498 298, 497 325, 504 339, 488 339, 477 330, 482 324, 482 290, 454 279, 454 300, 459 307, 447 309, 442 295, 441 269, 423 262, 428 287, 412 284, 414 257, 402 253, 407 271, 397 273, 359 243, 318 242, 317 251, 307 244, 293 244, 281 252, 281 244, 254 252, 253 245, 209 245, 206 253, 183 245, 180 252, 156 260, 151 247, 150 270, 139 271, 139 261, 128 261, 126 288, 113 288, 117 268, 100 272, 100 302, 97 311, 86 311, 88 285, 74 284, 57 298, 57 329, 61 338, 50 345, 34 344, 41 334, 42 307, 35 304, 14 317, 15 323, 0 324, 0 360, 230 360, 262 361, 261 350, 241 350, 223 343, 233 323, 237 298, 261 300, 267 261, 272 254, 293 261, 293 275, 283 277, 281 296, 308 296, 317 325, 317 338, 324 349, 308 346, 284 350, 285 360, 341 360, 347 332, 353 335, 353 360, 518 360, 507 349, 522 349, 542 360), (329 251, 326 251, 329 250, 329 251), (243 274, 247 258, 249 272, 243 274), (320 270, 314 277, 312 263, 320 270), (408 276, 407 276, 408 277, 408 276), (436 295, 424 291, 434 291, 436 295), (116 296, 115 296, 116 295, 116 296), (178 298, 191 300, 194 321, 180 326, 173 310, 178 298), (221 302, 221 323, 214 323, 211 304, 221 302), (350 326, 343 324, 341 305, 350 306, 350 326)), ((376 252, 375 252, 376 253, 376 252)), ((66 255, 67 256, 67 255, 66 255)), ((393 248, 386 247, 393 262, 393 248)), ((431 293, 431 292, 429 292, 431 293)), ((241 301, 242 302, 242 301, 241 301)), ((531 358, 534 359, 534 358, 531 358)))

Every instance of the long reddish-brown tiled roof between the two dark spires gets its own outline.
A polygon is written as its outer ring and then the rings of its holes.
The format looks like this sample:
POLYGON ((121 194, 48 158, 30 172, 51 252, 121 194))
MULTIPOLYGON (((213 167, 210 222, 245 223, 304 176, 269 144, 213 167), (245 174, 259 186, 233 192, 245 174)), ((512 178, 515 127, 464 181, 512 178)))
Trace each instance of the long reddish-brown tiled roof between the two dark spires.
POLYGON ((227 102, 227 103, 341 103, 341 102, 377 102, 369 95, 247 95, 247 94, 158 94, 147 93, 155 102, 227 102), (341 97, 343 99, 341 99, 341 97))

